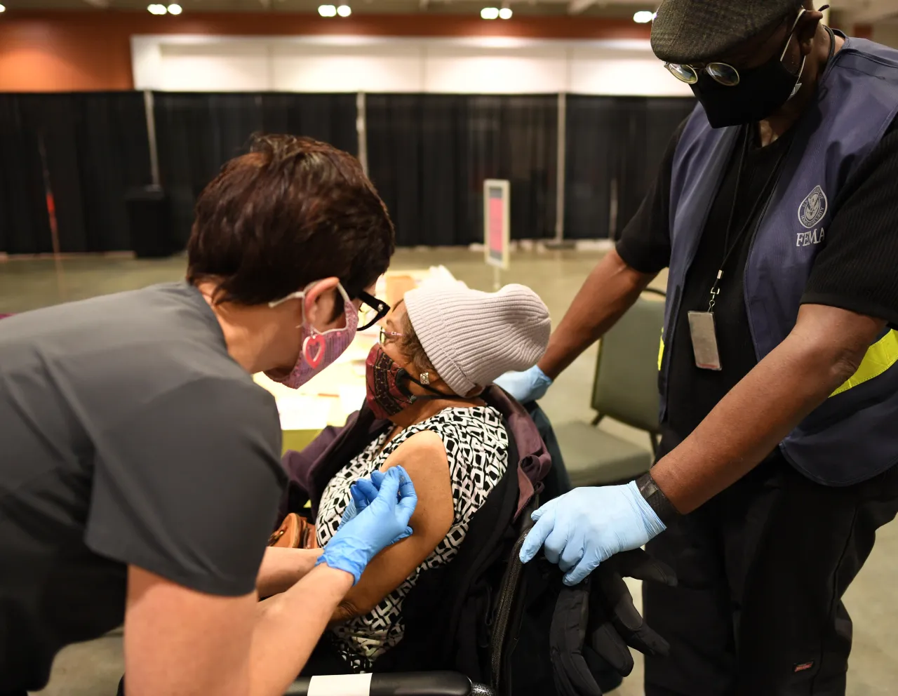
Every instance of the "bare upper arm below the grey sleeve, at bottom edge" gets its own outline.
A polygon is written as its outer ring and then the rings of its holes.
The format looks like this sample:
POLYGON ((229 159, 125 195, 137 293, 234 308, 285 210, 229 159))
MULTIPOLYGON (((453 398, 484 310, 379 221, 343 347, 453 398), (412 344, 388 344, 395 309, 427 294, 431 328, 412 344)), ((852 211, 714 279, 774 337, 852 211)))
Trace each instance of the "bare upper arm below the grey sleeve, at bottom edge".
POLYGON ((128 696, 250 692, 256 595, 207 595, 128 567, 128 696))

